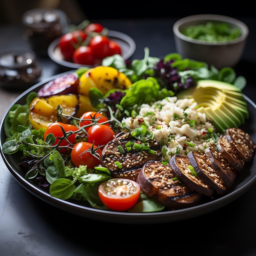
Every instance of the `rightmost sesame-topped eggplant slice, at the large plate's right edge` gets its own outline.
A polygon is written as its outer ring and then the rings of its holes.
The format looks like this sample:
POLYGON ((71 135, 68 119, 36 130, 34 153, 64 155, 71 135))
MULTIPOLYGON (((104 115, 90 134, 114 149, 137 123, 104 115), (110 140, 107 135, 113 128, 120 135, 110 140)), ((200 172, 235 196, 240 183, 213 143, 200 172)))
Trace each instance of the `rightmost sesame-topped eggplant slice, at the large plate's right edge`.
POLYGON ((256 148, 249 134, 241 128, 228 128, 226 130, 226 136, 229 141, 234 141, 236 148, 243 155, 245 161, 249 162, 256 148))

